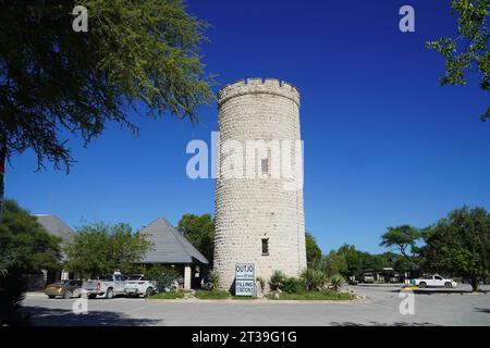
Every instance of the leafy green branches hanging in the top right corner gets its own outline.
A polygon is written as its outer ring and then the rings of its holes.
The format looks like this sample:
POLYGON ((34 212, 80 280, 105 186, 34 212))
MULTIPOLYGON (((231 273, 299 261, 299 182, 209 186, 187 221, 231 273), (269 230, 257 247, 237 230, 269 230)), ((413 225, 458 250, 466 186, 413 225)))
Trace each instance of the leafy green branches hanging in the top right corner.
MULTIPOLYGON (((457 14, 457 37, 441 37, 426 46, 437 50, 445 58, 445 75, 440 78, 442 85, 466 85, 465 72, 481 74, 480 88, 490 90, 490 36, 488 16, 490 0, 452 0, 452 13, 457 14)), ((481 115, 490 117, 490 107, 481 115)))

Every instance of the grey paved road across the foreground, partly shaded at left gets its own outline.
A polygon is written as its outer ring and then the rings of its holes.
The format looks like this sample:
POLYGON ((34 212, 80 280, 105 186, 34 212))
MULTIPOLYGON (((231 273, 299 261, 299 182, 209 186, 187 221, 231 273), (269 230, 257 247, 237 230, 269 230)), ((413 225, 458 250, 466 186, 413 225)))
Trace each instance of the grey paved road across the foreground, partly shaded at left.
POLYGON ((400 313, 393 287, 354 287, 355 301, 88 300, 88 314, 74 314, 75 299, 29 294, 23 302, 35 325, 486 325, 490 294, 415 294, 415 314, 400 313))

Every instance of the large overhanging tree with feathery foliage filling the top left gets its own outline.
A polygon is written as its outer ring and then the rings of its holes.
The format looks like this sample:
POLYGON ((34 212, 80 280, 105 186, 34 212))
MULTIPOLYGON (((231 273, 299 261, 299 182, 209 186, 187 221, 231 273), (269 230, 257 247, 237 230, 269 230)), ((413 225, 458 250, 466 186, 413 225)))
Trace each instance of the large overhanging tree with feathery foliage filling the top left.
POLYGON ((34 150, 66 172, 66 133, 87 145, 128 110, 197 121, 213 99, 199 47, 207 24, 181 0, 2 1, 0 11, 0 211, 3 163, 34 150), (88 32, 72 28, 76 5, 88 32))

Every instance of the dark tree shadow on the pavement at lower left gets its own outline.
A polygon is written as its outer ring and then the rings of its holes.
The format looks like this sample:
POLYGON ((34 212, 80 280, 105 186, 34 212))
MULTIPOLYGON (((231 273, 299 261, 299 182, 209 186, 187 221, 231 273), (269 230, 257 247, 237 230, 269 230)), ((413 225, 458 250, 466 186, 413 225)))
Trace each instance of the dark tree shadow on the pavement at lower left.
POLYGON ((71 310, 45 307, 23 307, 23 312, 30 315, 34 326, 145 326, 161 322, 150 319, 134 319, 117 312, 89 311, 87 314, 75 314, 71 310))

